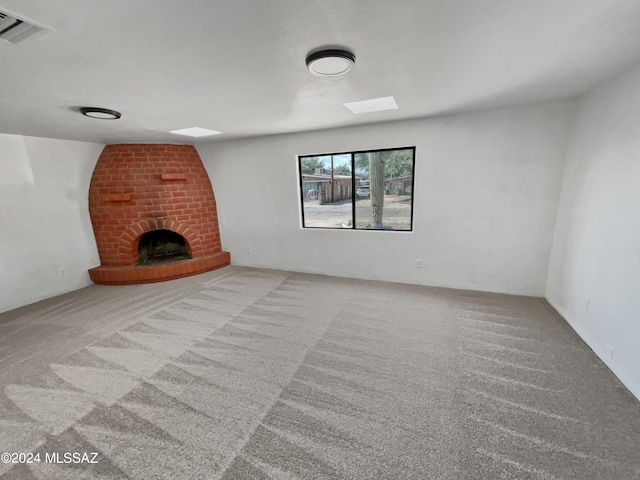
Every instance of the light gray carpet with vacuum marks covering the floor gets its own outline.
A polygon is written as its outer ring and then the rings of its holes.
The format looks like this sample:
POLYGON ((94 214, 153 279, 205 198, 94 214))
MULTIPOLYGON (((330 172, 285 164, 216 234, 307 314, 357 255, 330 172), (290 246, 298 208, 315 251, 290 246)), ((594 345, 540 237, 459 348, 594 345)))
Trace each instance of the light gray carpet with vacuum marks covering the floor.
POLYGON ((41 458, 3 480, 640 479, 640 403, 543 299, 227 267, 0 314, 0 452, 41 458))

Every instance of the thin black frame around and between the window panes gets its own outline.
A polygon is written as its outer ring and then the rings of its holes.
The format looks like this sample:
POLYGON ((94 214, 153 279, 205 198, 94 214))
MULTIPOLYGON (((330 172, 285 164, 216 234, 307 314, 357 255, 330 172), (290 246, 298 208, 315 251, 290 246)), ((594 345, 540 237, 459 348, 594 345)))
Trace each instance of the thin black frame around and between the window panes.
POLYGON ((298 155, 298 181, 300 187, 300 214, 302 219, 302 228, 310 230, 357 230, 357 231, 372 231, 372 232, 413 232, 413 207, 414 207, 414 193, 415 193, 415 178, 416 178, 416 147, 391 147, 391 148, 375 148, 367 150, 350 150, 343 152, 331 152, 331 153, 314 153, 298 155), (393 228, 358 228, 356 225, 356 155, 371 152, 393 152, 397 150, 411 150, 412 151, 412 164, 411 164, 411 209, 409 219, 409 229, 396 230, 393 228), (351 227, 316 227, 305 225, 304 217, 304 185, 303 185, 303 173, 302 173, 302 160, 312 157, 328 157, 338 155, 351 155, 351 227))

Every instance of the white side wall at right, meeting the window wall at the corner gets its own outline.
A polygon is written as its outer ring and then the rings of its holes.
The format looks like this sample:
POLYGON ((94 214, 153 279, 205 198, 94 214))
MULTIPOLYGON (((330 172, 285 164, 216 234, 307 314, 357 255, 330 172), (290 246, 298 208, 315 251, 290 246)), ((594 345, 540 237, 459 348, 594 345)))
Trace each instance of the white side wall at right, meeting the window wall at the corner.
POLYGON ((640 398, 640 67, 578 105, 546 296, 640 398))

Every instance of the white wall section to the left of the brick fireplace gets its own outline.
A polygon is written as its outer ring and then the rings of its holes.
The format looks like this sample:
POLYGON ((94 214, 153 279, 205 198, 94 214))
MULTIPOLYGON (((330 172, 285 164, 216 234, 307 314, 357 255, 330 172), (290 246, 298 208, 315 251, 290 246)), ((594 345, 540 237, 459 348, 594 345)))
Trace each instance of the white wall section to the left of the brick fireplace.
POLYGON ((102 148, 0 134, 0 312, 91 283, 88 192, 102 148))

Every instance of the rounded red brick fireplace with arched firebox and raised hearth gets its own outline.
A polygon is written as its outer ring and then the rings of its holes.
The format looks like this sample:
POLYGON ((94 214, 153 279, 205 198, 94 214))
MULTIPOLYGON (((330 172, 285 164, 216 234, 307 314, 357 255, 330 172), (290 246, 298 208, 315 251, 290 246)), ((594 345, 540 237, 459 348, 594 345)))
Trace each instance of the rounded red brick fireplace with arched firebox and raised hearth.
POLYGON ((107 145, 91 177, 95 283, 171 280, 228 265, 213 188, 195 147, 107 145))

